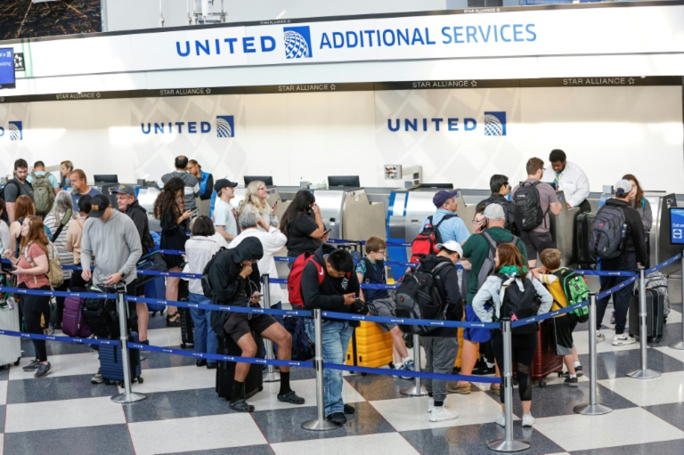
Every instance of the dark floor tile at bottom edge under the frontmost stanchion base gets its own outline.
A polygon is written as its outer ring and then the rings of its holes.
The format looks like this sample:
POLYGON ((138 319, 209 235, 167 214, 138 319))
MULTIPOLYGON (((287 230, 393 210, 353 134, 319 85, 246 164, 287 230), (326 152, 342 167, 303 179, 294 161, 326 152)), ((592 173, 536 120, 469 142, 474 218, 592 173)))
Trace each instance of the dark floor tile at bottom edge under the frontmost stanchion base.
MULTIPOLYGON (((432 430, 413 430, 401 433, 415 449, 424 455, 491 455, 487 441, 503 438, 503 428, 497 424, 452 426, 432 430)), ((544 455, 564 450, 534 428, 516 424, 513 437, 531 443, 525 455, 544 455)))

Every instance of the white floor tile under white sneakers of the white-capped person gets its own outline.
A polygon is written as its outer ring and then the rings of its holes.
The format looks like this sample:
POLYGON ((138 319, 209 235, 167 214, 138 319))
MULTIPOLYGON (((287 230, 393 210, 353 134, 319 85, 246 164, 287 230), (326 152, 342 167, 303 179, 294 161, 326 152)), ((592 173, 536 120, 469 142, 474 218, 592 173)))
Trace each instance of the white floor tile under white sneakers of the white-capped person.
POLYGON ((447 395, 445 406, 458 413, 458 419, 430 422, 428 397, 397 398, 370 402, 397 431, 425 430, 449 426, 488 424, 501 414, 501 405, 488 393, 447 395))

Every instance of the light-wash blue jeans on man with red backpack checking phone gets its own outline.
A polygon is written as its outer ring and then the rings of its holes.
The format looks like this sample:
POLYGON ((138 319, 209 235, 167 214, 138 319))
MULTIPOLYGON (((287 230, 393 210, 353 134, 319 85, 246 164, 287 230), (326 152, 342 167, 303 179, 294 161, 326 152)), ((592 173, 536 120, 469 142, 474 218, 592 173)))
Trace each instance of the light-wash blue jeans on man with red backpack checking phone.
MULTIPOLYGON (((308 337, 315 340, 313 319, 307 319, 305 326, 308 337)), ((354 328, 346 321, 323 320, 322 348, 324 363, 344 363, 353 331, 354 328)), ((325 388, 326 417, 332 413, 343 413, 342 372, 339 369, 324 369, 323 384, 325 388)))

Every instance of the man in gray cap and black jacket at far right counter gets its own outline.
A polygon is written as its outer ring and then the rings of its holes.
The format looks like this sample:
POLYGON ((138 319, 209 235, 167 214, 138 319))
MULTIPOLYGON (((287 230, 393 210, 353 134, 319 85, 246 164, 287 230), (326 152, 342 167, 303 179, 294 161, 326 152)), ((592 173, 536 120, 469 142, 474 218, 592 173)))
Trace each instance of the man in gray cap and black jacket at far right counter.
MULTIPOLYGON (((618 270, 624 272, 636 272, 637 265, 646 264, 648 255, 646 254, 646 240, 644 239, 644 225, 641 221, 639 212, 629 207, 629 192, 632 190, 632 183, 629 180, 618 180, 614 185, 615 197, 605 201, 599 212, 596 213, 596 221, 614 219, 627 226, 627 234, 622 239, 622 250, 618 257, 602 257, 601 269, 618 270), (622 217, 620 217, 622 211, 622 217), (624 220, 620 220, 624 218, 624 220)), ((627 276, 601 276, 601 292, 627 280, 627 276)), ((635 343, 634 337, 624 333, 627 324, 627 310, 629 309, 629 298, 632 287, 625 286, 613 293, 613 304, 615 307, 615 336, 613 345, 635 343)), ((605 335, 601 329, 601 321, 605 315, 610 296, 596 300, 596 341, 603 341, 605 335)))

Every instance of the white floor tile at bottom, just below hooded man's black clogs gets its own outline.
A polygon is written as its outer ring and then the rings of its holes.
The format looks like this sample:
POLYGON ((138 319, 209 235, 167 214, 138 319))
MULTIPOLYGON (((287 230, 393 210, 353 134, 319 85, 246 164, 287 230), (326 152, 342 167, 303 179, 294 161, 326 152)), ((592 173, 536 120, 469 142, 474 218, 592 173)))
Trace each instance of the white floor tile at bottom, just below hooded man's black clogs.
POLYGON ((129 431, 137 455, 267 443, 249 414, 145 421, 129 424, 129 431))

